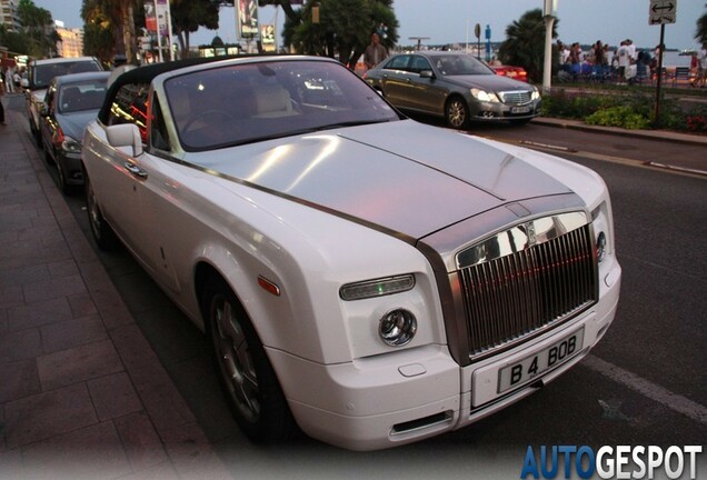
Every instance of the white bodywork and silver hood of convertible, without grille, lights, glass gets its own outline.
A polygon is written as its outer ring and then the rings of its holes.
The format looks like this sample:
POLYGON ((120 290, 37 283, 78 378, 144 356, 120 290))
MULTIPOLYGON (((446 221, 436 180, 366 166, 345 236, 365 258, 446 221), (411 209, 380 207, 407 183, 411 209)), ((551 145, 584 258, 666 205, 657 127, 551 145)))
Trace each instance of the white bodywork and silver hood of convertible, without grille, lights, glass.
MULTIPOLYGON (((163 93, 159 82, 155 91, 163 93)), ((488 416, 536 390, 498 393, 501 368, 584 328, 581 349, 542 374, 547 382, 586 356, 616 313, 620 267, 606 186, 547 154, 407 120, 168 158, 110 147, 97 121, 83 152, 106 219, 146 270, 201 328, 197 270, 218 271, 252 321, 300 428, 337 446, 388 448, 488 416), (364 186, 367 194, 357 196, 364 186), (542 198, 560 199, 557 211, 579 210, 608 233, 598 300, 557 328, 460 364, 438 289, 440 276, 457 269, 458 249, 440 251, 434 264, 421 244, 478 220, 481 233, 467 239, 474 244, 518 223, 510 216, 486 229, 499 209, 542 198), (339 294, 347 283, 409 273, 416 283, 406 292, 357 301, 339 294), (281 294, 261 288, 259 277, 281 294), (412 341, 398 348, 378 334, 394 308, 418 319, 412 341)))

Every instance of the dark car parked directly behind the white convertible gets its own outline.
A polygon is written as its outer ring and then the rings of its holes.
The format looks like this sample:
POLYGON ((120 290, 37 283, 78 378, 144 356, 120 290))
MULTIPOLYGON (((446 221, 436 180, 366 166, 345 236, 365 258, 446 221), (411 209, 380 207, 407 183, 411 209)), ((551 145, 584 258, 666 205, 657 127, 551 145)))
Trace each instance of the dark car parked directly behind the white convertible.
POLYGON ((83 129, 103 104, 110 72, 54 77, 40 109, 39 131, 48 162, 56 163, 64 193, 83 184, 83 129))

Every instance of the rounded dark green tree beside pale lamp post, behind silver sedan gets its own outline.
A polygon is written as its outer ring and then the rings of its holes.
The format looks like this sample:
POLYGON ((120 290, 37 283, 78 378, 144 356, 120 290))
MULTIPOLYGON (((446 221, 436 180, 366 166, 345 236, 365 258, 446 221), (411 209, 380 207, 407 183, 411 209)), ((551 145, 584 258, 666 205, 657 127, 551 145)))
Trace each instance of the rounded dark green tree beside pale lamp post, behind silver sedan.
MULTIPOLYGON (((552 26, 552 38, 557 37, 557 24, 552 26)), ((542 10, 529 10, 506 28, 506 40, 498 49, 502 63, 522 67, 534 81, 542 80, 545 59, 545 20, 542 10)))

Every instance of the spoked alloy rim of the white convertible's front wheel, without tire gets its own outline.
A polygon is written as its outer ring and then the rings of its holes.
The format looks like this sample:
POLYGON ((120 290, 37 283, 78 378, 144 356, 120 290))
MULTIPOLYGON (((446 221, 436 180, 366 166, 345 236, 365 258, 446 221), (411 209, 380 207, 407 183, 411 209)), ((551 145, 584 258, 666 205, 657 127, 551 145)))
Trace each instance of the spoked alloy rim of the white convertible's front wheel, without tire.
POLYGON ((211 314, 211 337, 227 391, 242 417, 255 423, 260 418, 260 390, 243 328, 223 296, 213 297, 211 314))

